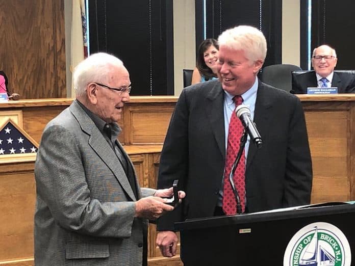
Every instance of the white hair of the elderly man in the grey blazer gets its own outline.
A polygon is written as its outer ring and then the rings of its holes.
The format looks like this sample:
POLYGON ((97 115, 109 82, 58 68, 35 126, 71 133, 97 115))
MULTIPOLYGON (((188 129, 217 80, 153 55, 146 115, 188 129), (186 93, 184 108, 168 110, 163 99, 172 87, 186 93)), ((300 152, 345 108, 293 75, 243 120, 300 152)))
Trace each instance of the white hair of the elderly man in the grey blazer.
POLYGON ((108 73, 112 66, 123 66, 123 63, 118 58, 106 54, 105 52, 98 52, 92 54, 82 62, 80 62, 74 69, 73 85, 75 94, 77 96, 85 95, 86 86, 92 82, 106 83, 108 73))

